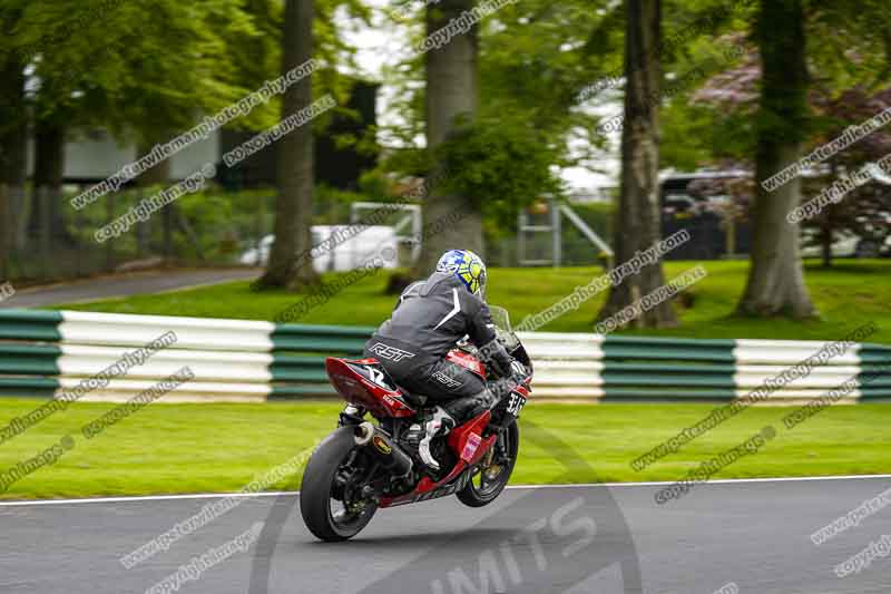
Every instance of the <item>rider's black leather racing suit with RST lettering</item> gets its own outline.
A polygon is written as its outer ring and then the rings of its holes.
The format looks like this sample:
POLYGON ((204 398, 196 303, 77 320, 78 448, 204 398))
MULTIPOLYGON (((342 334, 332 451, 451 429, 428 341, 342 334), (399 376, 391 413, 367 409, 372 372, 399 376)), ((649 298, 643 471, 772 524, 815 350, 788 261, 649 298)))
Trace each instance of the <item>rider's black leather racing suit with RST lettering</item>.
POLYGON ((498 374, 510 373, 510 356, 496 340, 486 302, 452 274, 433 273, 402 292, 392 317, 365 343, 364 356, 380 361, 402 388, 468 418, 479 413, 491 392, 479 376, 446 360, 464 335, 488 354, 486 362, 498 374))

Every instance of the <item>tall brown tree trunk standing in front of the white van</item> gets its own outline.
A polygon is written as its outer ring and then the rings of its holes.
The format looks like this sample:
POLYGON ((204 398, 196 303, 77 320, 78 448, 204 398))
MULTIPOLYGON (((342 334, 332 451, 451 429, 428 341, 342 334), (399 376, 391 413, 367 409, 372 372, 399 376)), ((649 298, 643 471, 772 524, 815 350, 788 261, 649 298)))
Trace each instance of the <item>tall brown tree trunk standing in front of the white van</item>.
MULTIPOLYGON (((287 0, 283 32, 282 71, 295 68, 312 57, 313 0, 287 0)), ((282 119, 312 104, 312 77, 304 77, 285 91, 282 119)), ((306 121, 278 140, 278 197, 275 212, 275 243, 266 273, 255 286, 290 288, 319 284, 312 257, 313 134, 306 121)))

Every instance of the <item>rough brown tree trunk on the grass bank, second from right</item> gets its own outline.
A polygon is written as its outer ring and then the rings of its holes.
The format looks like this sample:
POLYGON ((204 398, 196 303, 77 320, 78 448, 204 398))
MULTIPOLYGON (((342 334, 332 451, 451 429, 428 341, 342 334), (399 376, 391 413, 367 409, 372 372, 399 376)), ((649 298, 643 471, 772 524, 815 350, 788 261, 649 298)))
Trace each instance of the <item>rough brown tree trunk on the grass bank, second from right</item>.
MULTIPOLYGON (((615 265, 630 261, 662 238, 659 206, 659 57, 660 0, 626 0, 625 119, 621 133, 621 188, 616 213, 615 265)), ((599 313, 604 320, 665 284, 662 263, 610 288, 599 313)), ((642 313, 630 325, 659 328, 677 323, 670 302, 642 313)))

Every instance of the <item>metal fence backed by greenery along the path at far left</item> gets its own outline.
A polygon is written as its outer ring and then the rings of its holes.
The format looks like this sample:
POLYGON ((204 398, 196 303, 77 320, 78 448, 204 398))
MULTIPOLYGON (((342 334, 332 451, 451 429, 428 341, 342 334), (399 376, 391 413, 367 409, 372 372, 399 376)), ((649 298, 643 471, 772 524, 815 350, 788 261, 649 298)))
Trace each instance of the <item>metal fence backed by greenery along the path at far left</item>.
POLYGON ((185 195, 118 237, 99 242, 99 228, 159 188, 108 194, 74 208, 70 198, 87 188, 66 186, 59 195, 28 187, 10 196, 8 254, 0 262, 7 280, 62 280, 160 263, 234 265, 273 228, 275 197, 270 191, 203 193, 185 195))

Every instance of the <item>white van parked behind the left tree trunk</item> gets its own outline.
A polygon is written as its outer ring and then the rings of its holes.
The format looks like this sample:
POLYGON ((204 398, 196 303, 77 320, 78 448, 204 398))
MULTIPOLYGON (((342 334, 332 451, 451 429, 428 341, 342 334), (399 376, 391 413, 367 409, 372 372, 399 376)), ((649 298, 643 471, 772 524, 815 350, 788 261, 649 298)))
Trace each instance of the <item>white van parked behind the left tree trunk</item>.
MULTIPOLYGON (((399 240, 393 227, 313 225, 312 236, 313 246, 319 247, 313 254, 313 267, 319 273, 355 270, 374 262, 375 257, 383 261, 384 269, 399 266, 399 240)), ((273 241, 273 235, 266 235, 257 247, 244 252, 238 261, 247 266, 265 266, 273 241)))

